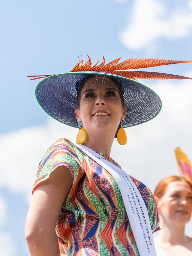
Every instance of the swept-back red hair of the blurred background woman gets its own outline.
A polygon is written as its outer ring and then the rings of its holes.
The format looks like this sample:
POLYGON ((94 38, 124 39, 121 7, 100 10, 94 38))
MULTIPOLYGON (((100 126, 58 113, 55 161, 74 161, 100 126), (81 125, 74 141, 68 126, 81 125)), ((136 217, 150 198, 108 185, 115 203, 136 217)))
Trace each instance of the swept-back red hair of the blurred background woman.
POLYGON ((160 198, 163 196, 166 187, 168 186, 169 183, 173 182, 173 181, 186 181, 191 189, 192 189, 192 185, 183 177, 178 177, 178 176, 168 176, 163 178, 156 186, 155 188, 155 192, 154 192, 154 196, 160 198))

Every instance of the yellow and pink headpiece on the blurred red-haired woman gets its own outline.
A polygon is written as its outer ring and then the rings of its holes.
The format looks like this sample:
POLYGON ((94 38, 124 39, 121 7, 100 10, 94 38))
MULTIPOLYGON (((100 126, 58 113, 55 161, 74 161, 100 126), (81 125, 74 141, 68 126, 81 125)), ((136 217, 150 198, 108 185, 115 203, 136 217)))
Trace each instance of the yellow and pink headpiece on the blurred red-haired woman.
POLYGON ((175 155, 180 176, 184 177, 192 185, 192 166, 189 159, 179 147, 175 149, 175 155))

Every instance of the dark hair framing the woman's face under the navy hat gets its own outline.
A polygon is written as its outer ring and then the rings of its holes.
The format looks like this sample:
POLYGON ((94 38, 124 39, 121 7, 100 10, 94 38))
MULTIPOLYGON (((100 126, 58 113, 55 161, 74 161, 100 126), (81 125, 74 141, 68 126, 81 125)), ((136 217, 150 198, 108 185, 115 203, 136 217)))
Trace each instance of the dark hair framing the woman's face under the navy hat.
MULTIPOLYGON (((80 107, 80 99, 81 99, 82 88, 83 88, 84 84, 87 82, 87 80, 89 80, 93 76, 99 76, 99 75, 92 75, 92 76, 84 77, 83 80, 80 82, 80 84, 78 84, 78 83, 76 84, 76 89, 77 89, 77 108, 78 109, 80 107)), ((121 83, 118 82, 113 77, 109 77, 109 76, 104 76, 104 77, 107 77, 107 78, 111 79, 116 84, 116 86, 118 88, 118 91, 119 91, 119 95, 120 95, 120 99, 121 99, 121 104, 122 104, 122 106, 125 106, 124 98, 123 98, 124 89, 123 89, 121 83)), ((119 124, 119 126, 118 126, 118 129, 117 129, 117 131, 115 133, 115 138, 117 137, 117 132, 120 129, 120 127, 121 127, 121 124, 119 124)))

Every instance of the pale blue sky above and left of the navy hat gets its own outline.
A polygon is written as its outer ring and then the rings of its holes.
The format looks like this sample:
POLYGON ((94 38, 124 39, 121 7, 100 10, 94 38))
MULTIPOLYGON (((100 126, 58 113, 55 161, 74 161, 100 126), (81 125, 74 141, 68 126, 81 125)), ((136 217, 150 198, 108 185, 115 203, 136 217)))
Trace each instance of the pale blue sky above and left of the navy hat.
MULTIPOLYGON (((119 34, 125 24, 131 22, 133 2, 34 1, 30 5, 26 1, 4 2, 0 18, 4 24, 1 108, 6 111, 1 114, 6 122, 0 131, 5 133, 45 122, 47 116, 31 97, 35 82, 26 79, 26 75, 67 72, 77 62, 77 54, 82 54, 85 60, 89 54, 93 63, 103 54, 106 61, 119 56, 123 59, 138 56, 188 59, 191 56, 191 34, 176 39, 157 38, 157 51, 151 54, 124 46, 119 34)), ((180 7, 179 1, 170 2, 172 5, 168 4, 169 9, 162 16, 168 17, 170 11, 180 7)), ((147 31, 147 27, 141 24, 141 30, 147 31)), ((138 32, 135 31, 136 35, 138 32)), ((168 70, 185 69, 185 65, 175 65, 168 70)))

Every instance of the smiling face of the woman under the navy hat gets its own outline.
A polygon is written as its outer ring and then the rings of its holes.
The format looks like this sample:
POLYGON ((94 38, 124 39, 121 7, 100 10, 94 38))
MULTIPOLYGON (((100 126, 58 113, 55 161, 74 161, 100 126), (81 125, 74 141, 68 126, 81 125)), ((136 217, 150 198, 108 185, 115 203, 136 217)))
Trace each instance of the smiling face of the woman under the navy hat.
POLYGON ((105 131, 115 136, 125 113, 119 89, 110 78, 95 76, 84 83, 76 116, 88 134, 105 131))

